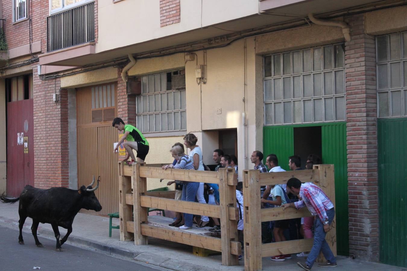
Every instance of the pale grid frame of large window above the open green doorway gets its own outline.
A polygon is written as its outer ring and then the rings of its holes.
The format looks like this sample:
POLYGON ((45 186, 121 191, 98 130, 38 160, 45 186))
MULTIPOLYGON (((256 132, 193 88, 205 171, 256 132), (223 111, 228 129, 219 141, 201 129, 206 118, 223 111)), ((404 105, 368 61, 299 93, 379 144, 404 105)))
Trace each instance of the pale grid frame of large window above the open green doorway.
MULTIPOLYGON (((274 125, 296 125, 296 124, 308 124, 308 123, 326 123, 326 122, 339 122, 339 121, 346 121, 346 84, 345 84, 345 57, 343 55, 343 59, 342 59, 342 63, 340 67, 336 67, 335 66, 335 52, 334 52, 334 48, 335 47, 342 47, 343 43, 333 43, 333 44, 327 44, 324 46, 317 46, 317 47, 312 47, 312 48, 303 48, 303 49, 298 49, 298 50, 292 50, 292 51, 288 51, 288 52, 280 52, 280 53, 274 53, 271 55, 265 55, 263 57, 263 119, 264 119, 264 125, 265 126, 274 126, 274 125), (324 48, 331 48, 331 57, 332 57, 332 63, 330 64, 331 67, 325 67, 324 64, 324 48), (321 53, 321 58, 320 58, 320 68, 318 69, 314 69, 314 50, 315 49, 319 49, 320 53, 321 53), (304 62, 303 62, 303 53, 304 51, 309 51, 310 52, 310 69, 304 71, 304 62), (300 65, 301 67, 299 67, 299 71, 296 70, 294 71, 294 66, 293 66, 293 53, 300 53, 300 65), (283 55, 284 54, 290 54, 290 72, 288 73, 284 73, 284 60, 283 60, 283 55), (265 65, 265 58, 266 57, 270 57, 271 56, 271 68, 272 71, 270 70, 270 75, 266 74, 266 65, 265 65), (280 72, 278 74, 275 74, 274 71, 274 56, 278 56, 278 58, 280 59, 278 62, 280 62, 280 72), (342 72, 342 76, 338 77, 339 80, 342 79, 343 81, 343 92, 336 92, 336 86, 335 86, 335 79, 337 78, 336 73, 337 72, 342 72), (321 83, 320 87, 321 87, 321 93, 318 95, 315 95, 314 93, 314 79, 313 76, 317 74, 320 74, 321 78, 319 79, 319 82, 321 83), (331 82, 331 91, 332 93, 325 93, 325 77, 324 74, 331 74, 332 75, 332 82, 331 82), (304 96, 304 76, 311 76, 311 96, 304 96), (300 87, 300 96, 298 97, 294 97, 294 77, 296 78, 300 78, 300 85, 298 85, 298 87, 300 87), (274 85, 274 80, 280 80, 280 89, 281 92, 280 93, 280 98, 275 99, 274 97, 274 87, 272 87, 272 93, 273 93, 273 97, 271 96, 267 96, 267 100, 266 100, 266 81, 271 82, 272 85, 274 85), (284 88, 283 88, 283 81, 284 79, 289 79, 290 82, 290 86, 291 86, 291 94, 289 98, 284 98, 284 88), (332 99, 332 103, 333 103, 333 108, 332 108, 332 117, 333 119, 328 119, 325 115, 326 112, 326 105, 325 102, 328 101, 328 99, 332 99), (342 100, 343 101, 343 109, 341 111, 343 111, 343 115, 341 114, 340 116, 337 115, 337 102, 336 100, 342 100), (322 119, 315 119, 315 101, 316 102, 321 102, 320 106, 322 109, 322 119), (305 106, 304 103, 305 102, 311 102, 311 114, 312 116, 310 117, 308 114, 305 114, 305 106), (291 121, 284 121, 284 104, 287 103, 290 105, 290 111, 291 111, 291 121), (301 118, 300 120, 297 119, 297 121, 295 121, 295 112, 294 112, 294 103, 298 103, 300 104, 299 108, 301 110, 301 118), (275 104, 277 104, 279 106, 279 110, 281 115, 279 117, 281 117, 281 122, 276 122, 275 119, 275 104), (271 121, 269 119, 267 119, 267 110, 266 110, 266 106, 268 106, 268 108, 271 108, 272 111, 272 119, 271 121), (307 118, 307 119, 306 119, 307 118)), ((343 48, 343 47, 342 47, 343 48)), ((344 53, 344 50, 342 51, 344 53)), ((298 69, 298 67, 297 67, 298 69)), ((271 92, 268 92, 267 94, 270 94, 271 92)), ((298 94, 298 93, 297 93, 298 94)), ((310 108, 308 108, 310 109, 310 108)))

